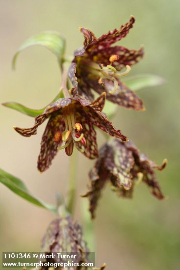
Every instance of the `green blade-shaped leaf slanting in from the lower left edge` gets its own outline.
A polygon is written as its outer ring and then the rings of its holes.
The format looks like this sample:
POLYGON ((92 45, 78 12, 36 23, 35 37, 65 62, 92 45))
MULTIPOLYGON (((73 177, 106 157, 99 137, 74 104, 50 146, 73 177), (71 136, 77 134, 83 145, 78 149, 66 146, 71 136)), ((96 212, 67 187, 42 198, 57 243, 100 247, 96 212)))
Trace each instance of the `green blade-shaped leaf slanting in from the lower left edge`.
POLYGON ((32 195, 26 188, 26 185, 19 178, 0 169, 0 182, 14 193, 24 198, 26 201, 39 207, 43 207, 54 214, 57 214, 56 206, 45 203, 43 200, 32 195))

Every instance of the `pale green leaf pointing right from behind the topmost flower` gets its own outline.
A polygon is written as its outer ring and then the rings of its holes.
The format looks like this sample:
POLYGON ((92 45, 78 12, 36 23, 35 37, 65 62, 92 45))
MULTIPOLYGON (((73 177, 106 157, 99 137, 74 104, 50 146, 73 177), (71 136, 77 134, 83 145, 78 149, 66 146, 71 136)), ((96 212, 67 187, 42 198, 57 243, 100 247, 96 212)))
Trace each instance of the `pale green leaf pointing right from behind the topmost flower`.
POLYGON ((145 87, 161 85, 164 79, 153 74, 140 74, 124 79, 124 82, 132 91, 138 91, 145 87))

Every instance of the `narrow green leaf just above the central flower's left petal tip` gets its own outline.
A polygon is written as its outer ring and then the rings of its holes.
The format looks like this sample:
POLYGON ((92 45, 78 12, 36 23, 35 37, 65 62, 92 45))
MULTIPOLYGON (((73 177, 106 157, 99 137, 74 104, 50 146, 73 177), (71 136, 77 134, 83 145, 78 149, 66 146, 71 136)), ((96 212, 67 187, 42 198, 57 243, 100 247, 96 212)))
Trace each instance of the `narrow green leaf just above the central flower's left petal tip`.
MULTIPOLYGON (((50 104, 52 104, 53 102, 55 102, 56 100, 58 100, 59 98, 63 98, 63 92, 60 91, 58 93, 58 95, 51 101, 50 104)), ((48 104, 48 105, 50 105, 48 104)), ((42 114, 43 111, 45 110, 46 107, 42 108, 42 109, 30 109, 30 108, 27 108, 26 106, 22 105, 22 104, 19 104, 19 103, 16 103, 16 102, 5 102, 5 103, 2 103, 3 106, 5 107, 8 107, 8 108, 12 108, 12 109, 15 109, 17 111, 20 111, 28 116, 32 116, 32 117, 36 117, 38 116, 39 114, 42 114)))

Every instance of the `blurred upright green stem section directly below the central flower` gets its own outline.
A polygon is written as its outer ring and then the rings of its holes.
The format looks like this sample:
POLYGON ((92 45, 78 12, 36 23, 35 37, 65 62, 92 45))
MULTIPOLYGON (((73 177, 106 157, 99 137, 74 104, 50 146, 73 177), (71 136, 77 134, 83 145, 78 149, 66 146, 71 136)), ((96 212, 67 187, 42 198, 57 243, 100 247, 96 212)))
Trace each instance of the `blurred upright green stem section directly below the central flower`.
POLYGON ((73 214, 76 198, 76 185, 77 185, 77 157, 78 152, 75 149, 73 155, 70 157, 70 173, 69 173, 69 188, 68 188, 68 201, 67 210, 70 214, 73 214))

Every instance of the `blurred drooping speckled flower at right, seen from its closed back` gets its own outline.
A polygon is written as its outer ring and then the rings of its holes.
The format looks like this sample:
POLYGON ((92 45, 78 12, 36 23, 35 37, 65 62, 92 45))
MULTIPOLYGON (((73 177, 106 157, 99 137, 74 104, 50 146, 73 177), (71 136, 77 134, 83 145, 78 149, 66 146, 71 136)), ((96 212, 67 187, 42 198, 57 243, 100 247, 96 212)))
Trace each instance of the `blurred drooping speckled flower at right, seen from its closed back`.
POLYGON ((95 217, 98 200, 107 181, 110 181, 117 195, 122 197, 131 198, 134 186, 142 181, 148 185, 157 199, 164 199, 154 169, 164 169, 167 160, 164 160, 161 166, 157 166, 131 141, 122 143, 118 139, 105 143, 99 154, 100 157, 89 174, 89 191, 83 195, 90 200, 92 218, 95 217))

